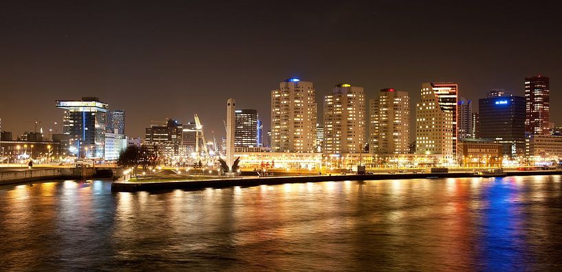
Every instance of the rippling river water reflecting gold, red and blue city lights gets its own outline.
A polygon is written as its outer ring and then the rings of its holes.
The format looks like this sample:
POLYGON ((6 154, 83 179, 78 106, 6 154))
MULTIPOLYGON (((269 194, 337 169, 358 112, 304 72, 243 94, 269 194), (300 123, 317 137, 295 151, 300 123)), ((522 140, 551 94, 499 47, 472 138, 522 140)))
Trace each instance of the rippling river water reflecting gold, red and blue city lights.
POLYGON ((562 269, 562 178, 0 188, 0 271, 562 269))

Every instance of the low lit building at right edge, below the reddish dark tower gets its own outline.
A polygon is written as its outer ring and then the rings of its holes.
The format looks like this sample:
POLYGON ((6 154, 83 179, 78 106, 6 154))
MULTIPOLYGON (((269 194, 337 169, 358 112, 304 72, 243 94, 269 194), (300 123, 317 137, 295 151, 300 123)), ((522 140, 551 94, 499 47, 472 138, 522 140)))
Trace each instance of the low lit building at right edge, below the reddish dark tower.
POLYGON ((552 161, 562 158, 562 136, 529 135, 525 141, 526 157, 530 161, 552 161))

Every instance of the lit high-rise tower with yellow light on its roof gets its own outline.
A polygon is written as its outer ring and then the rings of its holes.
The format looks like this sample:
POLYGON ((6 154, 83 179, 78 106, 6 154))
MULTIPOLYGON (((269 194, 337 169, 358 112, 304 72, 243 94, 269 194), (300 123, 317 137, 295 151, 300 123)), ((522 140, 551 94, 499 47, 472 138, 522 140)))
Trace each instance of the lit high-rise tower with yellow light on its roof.
POLYGON ((325 154, 358 153, 365 144, 365 91, 337 84, 324 98, 325 154))

